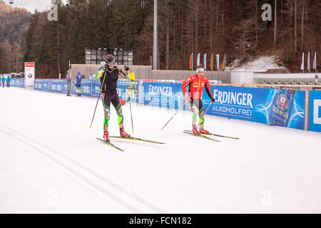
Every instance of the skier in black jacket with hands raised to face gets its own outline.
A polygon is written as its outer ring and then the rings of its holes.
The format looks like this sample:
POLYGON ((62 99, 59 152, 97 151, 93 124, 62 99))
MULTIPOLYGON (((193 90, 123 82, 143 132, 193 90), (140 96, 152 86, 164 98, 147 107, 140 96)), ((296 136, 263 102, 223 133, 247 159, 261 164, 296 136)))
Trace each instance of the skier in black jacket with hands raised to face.
POLYGON ((109 142, 108 138, 108 122, 111 118, 111 103, 116 109, 118 115, 118 125, 121 132, 121 137, 127 138, 131 137, 123 130, 123 110, 121 109, 121 103, 117 94, 117 81, 118 76, 126 78, 129 80, 129 67, 125 66, 125 71, 123 73, 117 66, 115 66, 115 57, 113 55, 106 56, 106 65, 103 66, 100 71, 96 74, 96 79, 101 81, 101 93, 103 95, 103 110, 105 113, 105 120, 103 122, 103 139, 109 142))

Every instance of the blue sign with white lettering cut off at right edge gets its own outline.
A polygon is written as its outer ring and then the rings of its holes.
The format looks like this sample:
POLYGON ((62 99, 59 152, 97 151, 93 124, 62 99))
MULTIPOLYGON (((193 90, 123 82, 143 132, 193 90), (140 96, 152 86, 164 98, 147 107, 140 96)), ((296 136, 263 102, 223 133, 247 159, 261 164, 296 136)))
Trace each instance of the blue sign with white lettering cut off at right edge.
POLYGON ((321 91, 310 91, 309 130, 321 132, 321 91))

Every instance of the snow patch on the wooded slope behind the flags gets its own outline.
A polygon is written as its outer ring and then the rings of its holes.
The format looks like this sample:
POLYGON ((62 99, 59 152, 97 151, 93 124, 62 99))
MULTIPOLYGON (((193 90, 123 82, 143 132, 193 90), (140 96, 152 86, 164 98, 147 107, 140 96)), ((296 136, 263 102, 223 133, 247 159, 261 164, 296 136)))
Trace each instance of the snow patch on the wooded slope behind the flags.
POLYGON ((236 58, 230 66, 226 67, 226 70, 265 72, 268 69, 285 69, 284 66, 277 65, 276 59, 276 56, 260 56, 240 66, 240 59, 236 58))

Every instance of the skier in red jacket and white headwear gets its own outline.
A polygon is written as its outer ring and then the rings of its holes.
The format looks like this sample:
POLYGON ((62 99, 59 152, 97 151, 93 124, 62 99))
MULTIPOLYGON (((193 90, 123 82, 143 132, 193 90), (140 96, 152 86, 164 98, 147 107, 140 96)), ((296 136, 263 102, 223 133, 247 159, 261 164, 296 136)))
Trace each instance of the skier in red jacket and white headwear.
POLYGON ((210 97, 212 102, 215 102, 212 93, 210 93, 210 83, 208 82, 208 78, 204 76, 204 66, 200 65, 196 69, 196 74, 193 76, 189 76, 186 79, 180 88, 185 95, 186 100, 190 104, 190 108, 193 111, 193 133, 198 135, 200 133, 208 134, 208 130, 204 129, 204 108, 202 102, 203 88, 205 87, 206 93, 210 97), (188 91, 186 90, 186 86, 189 86, 188 91), (200 118, 200 131, 198 131, 196 120, 197 116, 200 118))

